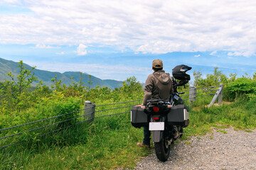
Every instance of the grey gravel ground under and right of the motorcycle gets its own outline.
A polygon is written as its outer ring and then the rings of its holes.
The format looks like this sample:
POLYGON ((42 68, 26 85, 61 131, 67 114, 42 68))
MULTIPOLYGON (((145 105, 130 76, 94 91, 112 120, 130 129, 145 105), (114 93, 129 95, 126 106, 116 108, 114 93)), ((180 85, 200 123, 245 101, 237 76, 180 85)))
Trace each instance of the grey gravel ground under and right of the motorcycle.
POLYGON ((166 162, 152 154, 138 162, 135 169, 255 169, 256 130, 213 129, 213 134, 191 137, 171 147, 166 162))

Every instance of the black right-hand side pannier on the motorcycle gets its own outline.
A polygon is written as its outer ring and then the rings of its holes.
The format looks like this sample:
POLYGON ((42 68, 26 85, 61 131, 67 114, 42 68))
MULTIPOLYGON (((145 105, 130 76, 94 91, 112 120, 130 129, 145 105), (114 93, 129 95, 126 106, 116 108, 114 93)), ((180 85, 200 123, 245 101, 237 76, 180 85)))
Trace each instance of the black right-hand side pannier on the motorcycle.
POLYGON ((171 107, 167 115, 168 125, 180 125, 187 127, 189 124, 188 107, 185 105, 176 105, 171 107))

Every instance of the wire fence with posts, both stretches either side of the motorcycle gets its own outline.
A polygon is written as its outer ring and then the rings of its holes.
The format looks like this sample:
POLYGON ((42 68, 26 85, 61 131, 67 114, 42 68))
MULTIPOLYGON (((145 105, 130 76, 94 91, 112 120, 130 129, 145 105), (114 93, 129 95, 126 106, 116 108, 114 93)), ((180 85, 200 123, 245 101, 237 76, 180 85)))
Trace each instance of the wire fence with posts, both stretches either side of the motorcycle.
MULTIPOLYGON (((183 101, 190 107, 212 106, 217 98, 218 104, 220 105, 222 103, 222 94, 223 84, 198 89, 194 86, 190 86, 188 91, 180 92, 181 98, 183 98, 183 101), (211 95, 214 95, 213 98, 210 97, 211 95), (210 104, 208 104, 209 102, 210 104)), ((131 108, 140 103, 142 103, 142 100, 96 106, 95 103, 85 101, 85 108, 79 111, 1 129, 0 149, 17 145, 21 142, 29 142, 30 140, 35 140, 45 135, 51 135, 81 123, 91 123, 97 118, 130 113, 131 108)))

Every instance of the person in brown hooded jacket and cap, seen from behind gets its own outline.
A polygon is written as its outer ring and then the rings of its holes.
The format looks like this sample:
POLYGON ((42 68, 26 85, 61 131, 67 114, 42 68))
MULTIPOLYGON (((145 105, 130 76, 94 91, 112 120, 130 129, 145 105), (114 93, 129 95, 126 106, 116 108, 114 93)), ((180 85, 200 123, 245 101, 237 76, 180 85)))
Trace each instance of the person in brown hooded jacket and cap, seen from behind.
MULTIPOLYGON (((146 101, 151 98, 169 100, 170 94, 174 93, 170 74, 163 70, 163 62, 154 60, 152 69, 154 73, 146 79, 142 106, 146 106, 146 101)), ((150 148, 150 135, 149 126, 145 126, 143 143, 137 143, 137 145, 150 148)))

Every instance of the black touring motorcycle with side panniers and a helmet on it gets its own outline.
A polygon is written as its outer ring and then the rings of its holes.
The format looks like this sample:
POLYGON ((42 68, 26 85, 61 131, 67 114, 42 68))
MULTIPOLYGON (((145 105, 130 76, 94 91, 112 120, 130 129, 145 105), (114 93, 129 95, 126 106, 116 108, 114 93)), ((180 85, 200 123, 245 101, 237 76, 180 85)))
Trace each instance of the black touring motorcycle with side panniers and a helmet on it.
POLYGON ((156 157, 165 162, 169 158, 171 144, 183 135, 183 128, 189 124, 188 107, 183 105, 183 100, 177 91, 178 86, 185 86, 190 80, 186 72, 191 69, 186 65, 179 65, 178 77, 173 69, 174 94, 170 100, 151 99, 146 107, 134 107, 131 111, 131 123, 135 128, 149 126, 155 146, 156 157), (185 67, 185 68, 184 68, 185 67), (182 72, 182 77, 181 76, 182 72), (186 78, 184 78, 186 77, 186 78), (181 81, 176 81, 178 78, 181 81))

